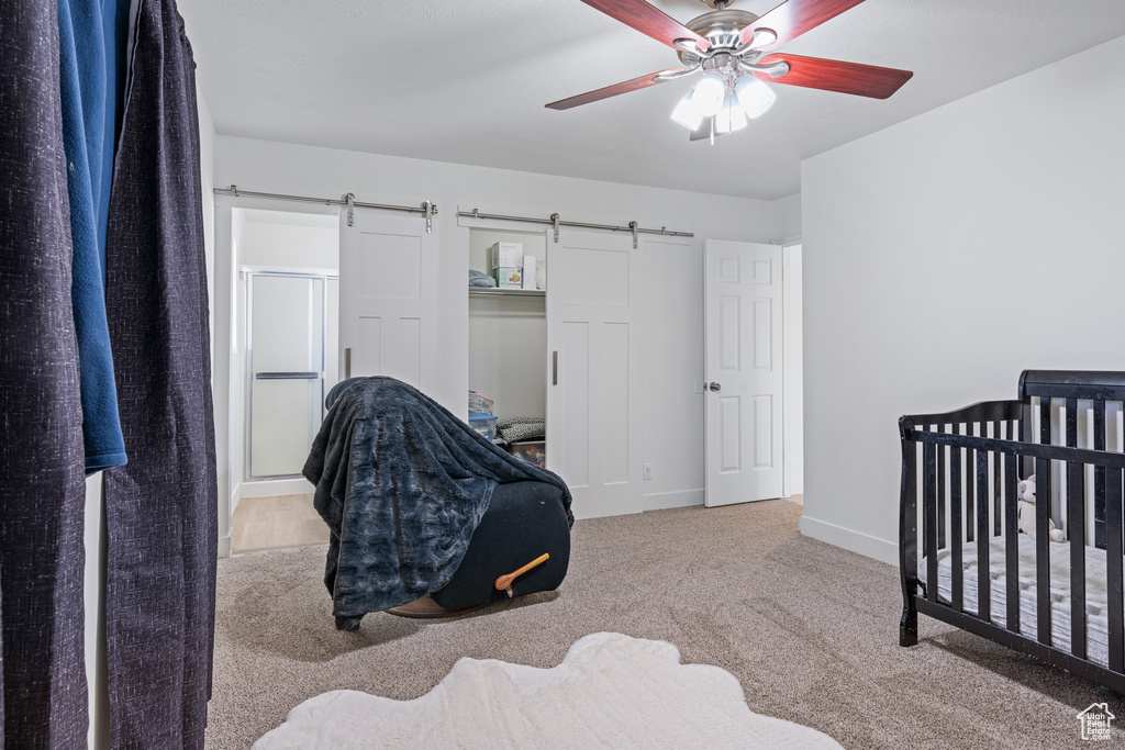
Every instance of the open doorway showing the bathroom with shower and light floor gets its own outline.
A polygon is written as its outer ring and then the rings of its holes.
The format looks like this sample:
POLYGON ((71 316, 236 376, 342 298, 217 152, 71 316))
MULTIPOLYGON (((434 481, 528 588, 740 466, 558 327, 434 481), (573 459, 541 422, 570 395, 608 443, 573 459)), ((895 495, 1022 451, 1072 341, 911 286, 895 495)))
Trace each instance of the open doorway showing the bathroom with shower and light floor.
POLYGON ((325 542, 327 526, 300 472, 338 380, 339 223, 278 210, 233 214, 232 551, 325 542))

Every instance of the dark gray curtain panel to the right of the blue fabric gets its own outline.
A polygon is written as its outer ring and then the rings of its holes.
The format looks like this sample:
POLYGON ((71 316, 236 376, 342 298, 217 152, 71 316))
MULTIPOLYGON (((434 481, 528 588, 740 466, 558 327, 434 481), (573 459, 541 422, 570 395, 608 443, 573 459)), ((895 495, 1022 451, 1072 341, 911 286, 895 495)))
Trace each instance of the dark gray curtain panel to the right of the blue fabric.
POLYGON ((195 63, 174 0, 142 0, 135 38, 106 249, 128 453, 106 472, 110 732, 201 748, 217 489, 195 63))

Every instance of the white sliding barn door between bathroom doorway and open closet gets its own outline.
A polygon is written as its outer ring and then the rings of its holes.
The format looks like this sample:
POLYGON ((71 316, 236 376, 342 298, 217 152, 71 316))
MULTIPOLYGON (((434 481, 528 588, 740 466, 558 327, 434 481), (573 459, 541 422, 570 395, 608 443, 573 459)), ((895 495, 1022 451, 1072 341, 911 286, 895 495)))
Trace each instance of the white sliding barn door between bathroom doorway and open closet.
POLYGON ((340 373, 439 386, 438 224, 354 209, 340 215, 340 373))

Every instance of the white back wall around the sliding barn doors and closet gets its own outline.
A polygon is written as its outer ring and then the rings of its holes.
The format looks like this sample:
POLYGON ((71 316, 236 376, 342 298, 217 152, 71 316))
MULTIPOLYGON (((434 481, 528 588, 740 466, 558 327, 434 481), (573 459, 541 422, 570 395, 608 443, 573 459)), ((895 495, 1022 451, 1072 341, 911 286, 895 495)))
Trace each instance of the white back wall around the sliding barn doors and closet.
POLYGON ((464 365, 469 229, 458 226, 458 208, 543 218, 557 211, 570 220, 637 220, 644 227, 694 232, 691 244, 652 252, 645 261, 644 413, 649 423, 641 453, 654 466, 646 495, 659 494, 658 506, 702 501, 703 396, 694 392, 703 377, 702 243, 768 242, 770 202, 227 136, 218 137, 216 154, 218 186, 316 197, 351 191, 360 201, 438 205, 441 297, 451 300, 441 313, 442 351, 457 367, 446 370, 434 396, 458 414, 469 387, 464 365))

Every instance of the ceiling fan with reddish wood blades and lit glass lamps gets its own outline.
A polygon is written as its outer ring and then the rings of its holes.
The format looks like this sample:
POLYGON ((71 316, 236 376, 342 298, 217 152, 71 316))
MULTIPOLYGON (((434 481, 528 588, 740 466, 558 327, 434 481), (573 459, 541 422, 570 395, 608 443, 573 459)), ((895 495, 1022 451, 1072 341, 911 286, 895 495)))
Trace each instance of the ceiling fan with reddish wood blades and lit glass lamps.
POLYGON ((863 0, 785 0, 764 16, 729 10, 731 0, 700 0, 714 10, 686 24, 645 0, 582 1, 673 47, 683 67, 552 101, 549 109, 570 109, 702 73, 672 119, 692 130, 692 141, 713 143, 714 136, 739 130, 770 109, 776 94, 764 81, 886 99, 914 75, 893 67, 773 52, 863 0))

